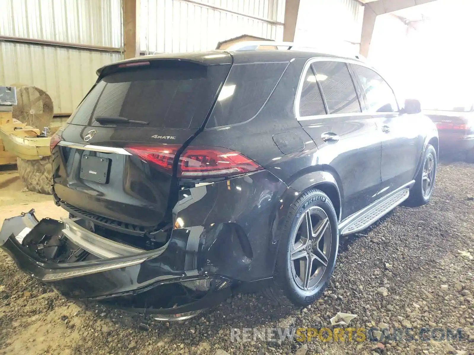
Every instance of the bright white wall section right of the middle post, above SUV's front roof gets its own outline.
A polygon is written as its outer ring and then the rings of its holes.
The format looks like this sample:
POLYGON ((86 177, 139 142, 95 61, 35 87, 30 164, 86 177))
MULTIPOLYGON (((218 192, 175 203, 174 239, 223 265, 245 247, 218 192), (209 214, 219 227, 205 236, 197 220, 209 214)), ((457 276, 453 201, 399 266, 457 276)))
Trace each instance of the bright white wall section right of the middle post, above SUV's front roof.
POLYGON ((364 6, 356 0, 301 0, 295 42, 328 42, 359 53, 364 6), (353 44, 351 44, 353 43, 353 44))

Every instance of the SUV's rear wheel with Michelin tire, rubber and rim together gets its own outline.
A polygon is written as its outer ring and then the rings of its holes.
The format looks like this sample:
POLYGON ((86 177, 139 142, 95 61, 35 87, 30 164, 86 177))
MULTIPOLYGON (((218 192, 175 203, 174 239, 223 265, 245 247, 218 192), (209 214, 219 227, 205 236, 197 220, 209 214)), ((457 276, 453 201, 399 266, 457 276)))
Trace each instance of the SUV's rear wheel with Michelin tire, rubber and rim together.
POLYGON ((274 284, 279 303, 308 305, 324 292, 336 264, 339 232, 329 197, 318 189, 301 195, 283 227, 274 284))

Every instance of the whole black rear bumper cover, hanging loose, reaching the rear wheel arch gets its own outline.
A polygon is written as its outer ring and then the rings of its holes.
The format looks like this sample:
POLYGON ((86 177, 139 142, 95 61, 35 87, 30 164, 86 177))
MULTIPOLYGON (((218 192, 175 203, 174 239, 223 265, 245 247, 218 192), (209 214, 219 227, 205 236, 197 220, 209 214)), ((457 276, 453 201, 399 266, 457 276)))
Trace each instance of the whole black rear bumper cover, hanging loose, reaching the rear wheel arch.
MULTIPOLYGON (((205 291, 203 297, 202 289, 191 288, 200 292, 197 303, 176 302, 184 310, 173 308, 168 314, 194 311, 228 297, 231 284, 232 288, 240 287, 273 276, 279 231, 296 195, 273 174, 260 170, 181 190, 173 208, 175 229, 159 249, 137 252, 120 247, 77 227, 77 223, 73 225, 72 220, 38 222, 33 211, 5 220, 0 231, 0 247, 19 269, 75 300, 109 302, 121 298, 124 302, 114 302, 124 307, 134 303, 134 309, 142 304, 149 309, 149 301, 157 297, 174 301, 178 296, 173 287, 186 287, 188 291, 189 283, 186 286, 183 282, 211 280, 209 292, 205 291), (65 228, 68 224, 69 229, 65 228), (35 241, 43 235, 64 235, 98 258, 47 261, 56 259, 38 255, 39 244, 28 242, 34 235, 35 241)), ((156 313, 164 314, 163 308, 156 313)))

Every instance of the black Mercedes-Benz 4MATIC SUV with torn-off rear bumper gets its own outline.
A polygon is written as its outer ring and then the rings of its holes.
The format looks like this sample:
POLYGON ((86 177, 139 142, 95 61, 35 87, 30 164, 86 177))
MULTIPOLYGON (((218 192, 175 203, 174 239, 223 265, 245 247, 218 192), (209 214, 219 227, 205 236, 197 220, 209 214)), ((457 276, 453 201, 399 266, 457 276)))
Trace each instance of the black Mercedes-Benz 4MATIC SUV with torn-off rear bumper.
POLYGON ((0 245, 65 297, 184 319, 264 288, 307 305, 340 236, 428 202, 438 132, 367 62, 297 50, 104 66, 51 141, 69 212, 6 220, 0 245))

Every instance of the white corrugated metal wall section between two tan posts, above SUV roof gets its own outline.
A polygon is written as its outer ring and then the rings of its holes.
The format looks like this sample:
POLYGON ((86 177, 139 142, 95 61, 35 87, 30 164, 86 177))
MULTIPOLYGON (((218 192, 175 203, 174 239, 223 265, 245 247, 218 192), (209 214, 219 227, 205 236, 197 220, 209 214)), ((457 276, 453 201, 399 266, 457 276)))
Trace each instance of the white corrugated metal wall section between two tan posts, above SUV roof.
POLYGON ((282 40, 284 0, 141 0, 141 49, 215 49, 238 35, 282 40))

